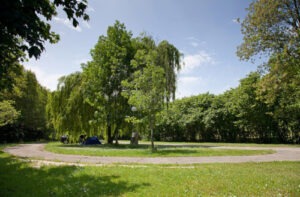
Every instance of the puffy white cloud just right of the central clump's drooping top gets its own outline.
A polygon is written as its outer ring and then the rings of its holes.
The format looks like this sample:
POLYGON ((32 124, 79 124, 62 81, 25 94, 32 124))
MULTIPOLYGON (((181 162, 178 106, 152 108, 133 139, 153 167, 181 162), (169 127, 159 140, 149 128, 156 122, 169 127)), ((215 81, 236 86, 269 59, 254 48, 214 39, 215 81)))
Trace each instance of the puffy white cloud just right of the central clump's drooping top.
POLYGON ((195 54, 187 54, 183 58, 184 66, 181 73, 190 73, 194 69, 200 68, 205 64, 214 64, 213 57, 205 51, 199 51, 195 54))

